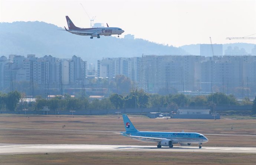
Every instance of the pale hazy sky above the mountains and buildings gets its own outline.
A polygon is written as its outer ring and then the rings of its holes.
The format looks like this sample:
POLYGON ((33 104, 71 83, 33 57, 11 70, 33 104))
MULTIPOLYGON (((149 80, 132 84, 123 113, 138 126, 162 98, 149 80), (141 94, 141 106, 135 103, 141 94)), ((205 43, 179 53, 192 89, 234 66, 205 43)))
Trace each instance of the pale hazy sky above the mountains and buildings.
MULTIPOLYGON (((256 33, 256 0, 0 0, 0 22, 44 21, 78 27, 108 23, 135 38, 182 46, 256 40, 226 40, 256 33)), ((256 37, 253 35, 251 37, 256 37)))

